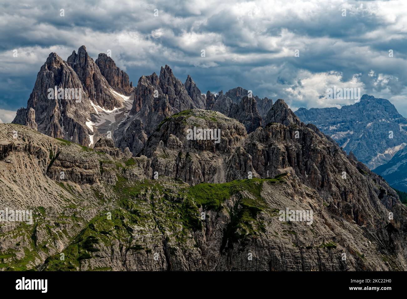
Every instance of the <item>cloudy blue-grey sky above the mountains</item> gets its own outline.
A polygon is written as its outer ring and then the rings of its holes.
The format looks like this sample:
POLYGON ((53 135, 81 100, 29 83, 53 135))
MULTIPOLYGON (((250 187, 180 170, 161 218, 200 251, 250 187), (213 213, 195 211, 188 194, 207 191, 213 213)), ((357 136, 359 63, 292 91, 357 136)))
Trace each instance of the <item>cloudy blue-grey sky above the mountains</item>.
POLYGON ((241 86, 295 111, 353 103, 326 89, 354 87, 407 117, 405 0, 0 0, 0 36, 4 122, 26 106, 50 52, 66 60, 82 45, 94 59, 111 50, 134 85, 168 64, 202 93, 241 86))

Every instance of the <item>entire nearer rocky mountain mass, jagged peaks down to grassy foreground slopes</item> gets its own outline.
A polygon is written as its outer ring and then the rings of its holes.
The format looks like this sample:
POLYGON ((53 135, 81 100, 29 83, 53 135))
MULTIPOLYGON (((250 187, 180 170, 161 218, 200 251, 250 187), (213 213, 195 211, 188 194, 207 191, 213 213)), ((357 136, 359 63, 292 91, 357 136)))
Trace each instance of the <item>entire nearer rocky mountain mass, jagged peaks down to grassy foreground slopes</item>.
POLYGON ((52 53, 26 126, 0 124, 0 206, 35 223, 0 222, 0 270, 407 270, 396 192, 284 100, 204 96, 168 65, 126 78, 84 47, 52 53))

